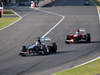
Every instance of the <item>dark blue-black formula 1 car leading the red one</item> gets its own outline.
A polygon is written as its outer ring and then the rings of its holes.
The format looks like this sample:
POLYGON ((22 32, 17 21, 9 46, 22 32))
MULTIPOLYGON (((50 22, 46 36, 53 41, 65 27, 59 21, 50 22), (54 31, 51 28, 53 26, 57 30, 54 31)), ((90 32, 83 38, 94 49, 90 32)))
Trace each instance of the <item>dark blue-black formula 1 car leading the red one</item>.
POLYGON ((57 52, 57 44, 51 42, 51 39, 48 37, 39 38, 35 44, 29 46, 22 46, 22 50, 19 53, 21 56, 29 55, 47 55, 57 52))

